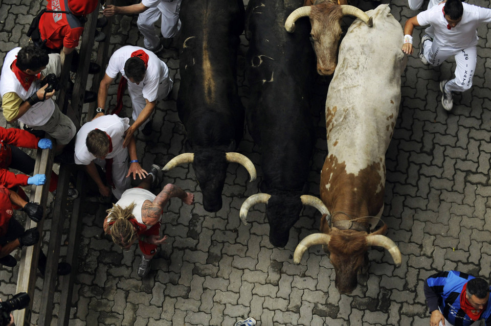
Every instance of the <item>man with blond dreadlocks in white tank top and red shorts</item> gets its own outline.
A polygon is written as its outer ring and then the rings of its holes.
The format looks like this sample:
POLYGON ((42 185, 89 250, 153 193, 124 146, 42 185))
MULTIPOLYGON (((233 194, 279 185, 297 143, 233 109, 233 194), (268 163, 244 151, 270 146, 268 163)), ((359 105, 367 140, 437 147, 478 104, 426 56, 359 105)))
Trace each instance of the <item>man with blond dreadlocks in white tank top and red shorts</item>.
POLYGON ((157 245, 165 242, 167 236, 160 238, 160 220, 164 206, 172 197, 180 198, 191 205, 192 193, 187 193, 174 184, 168 183, 155 196, 149 189, 159 185, 158 165, 152 165, 150 173, 138 187, 126 190, 113 208, 107 210, 104 220, 104 232, 113 238, 114 243, 123 249, 129 249, 138 240, 142 251, 142 261, 138 267, 138 276, 144 277, 150 271, 150 260, 157 245))

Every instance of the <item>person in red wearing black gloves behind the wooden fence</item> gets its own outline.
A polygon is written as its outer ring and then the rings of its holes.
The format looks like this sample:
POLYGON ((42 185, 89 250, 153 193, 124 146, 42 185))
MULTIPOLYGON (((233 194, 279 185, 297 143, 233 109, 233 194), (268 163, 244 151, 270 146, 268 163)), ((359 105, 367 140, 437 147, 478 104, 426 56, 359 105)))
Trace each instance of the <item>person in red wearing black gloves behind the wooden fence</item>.
MULTIPOLYGON (((17 220, 12 218, 14 208, 21 208, 36 223, 42 219, 42 207, 39 204, 27 202, 17 193, 0 187, 0 264, 8 267, 17 264, 10 254, 12 251, 23 246, 32 246, 39 241, 39 231, 36 228, 25 230, 17 220)), ((46 261, 46 255, 42 251, 39 252, 37 268, 42 275, 46 270, 46 261)), ((66 275, 70 272, 70 264, 58 264, 58 275, 66 275)))

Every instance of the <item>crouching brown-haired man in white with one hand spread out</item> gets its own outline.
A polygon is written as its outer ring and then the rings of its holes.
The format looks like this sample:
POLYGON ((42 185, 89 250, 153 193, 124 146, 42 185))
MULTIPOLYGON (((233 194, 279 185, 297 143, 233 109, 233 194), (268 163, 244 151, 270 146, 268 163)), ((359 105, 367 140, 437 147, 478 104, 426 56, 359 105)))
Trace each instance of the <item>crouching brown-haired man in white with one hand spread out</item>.
POLYGON ((124 132, 128 128, 129 118, 120 118, 116 114, 110 114, 87 122, 77 133, 74 154, 75 164, 85 165, 88 175, 96 182, 102 196, 110 196, 111 190, 102 181, 95 164, 105 167, 107 171, 109 167, 106 166, 105 159, 113 159, 111 176, 114 183, 113 195, 117 199, 121 198, 126 189, 131 188, 131 180, 128 178, 130 174, 133 174, 133 179, 136 179, 137 175, 140 179, 144 179, 147 175, 147 172, 142 169, 138 162, 135 137, 130 138, 127 149, 123 148, 124 132), (97 151, 91 151, 87 147, 87 144, 91 144, 89 135, 93 139, 92 144, 97 145, 97 151), (129 169, 128 153, 131 162, 129 169))

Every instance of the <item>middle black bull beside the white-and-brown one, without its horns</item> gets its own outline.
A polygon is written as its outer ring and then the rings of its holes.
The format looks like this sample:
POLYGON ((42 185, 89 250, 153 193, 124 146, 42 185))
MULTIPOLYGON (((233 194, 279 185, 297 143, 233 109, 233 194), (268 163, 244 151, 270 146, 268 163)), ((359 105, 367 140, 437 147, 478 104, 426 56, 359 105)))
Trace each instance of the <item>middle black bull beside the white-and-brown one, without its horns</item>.
POLYGON ((251 0, 246 12, 247 126, 261 148, 261 192, 271 195, 266 217, 270 242, 278 247, 286 245, 299 219, 315 143, 309 90, 316 58, 308 39, 310 24, 299 20, 293 34, 284 28, 286 17, 302 5, 303 0, 251 0))

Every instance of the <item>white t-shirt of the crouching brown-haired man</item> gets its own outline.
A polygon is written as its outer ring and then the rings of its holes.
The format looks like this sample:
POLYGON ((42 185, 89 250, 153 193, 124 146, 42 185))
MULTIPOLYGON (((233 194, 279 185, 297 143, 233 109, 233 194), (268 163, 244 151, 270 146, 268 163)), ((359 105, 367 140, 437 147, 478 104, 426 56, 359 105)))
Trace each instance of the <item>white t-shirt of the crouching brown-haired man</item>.
POLYGON ((106 158, 113 158, 114 164, 122 163, 128 157, 128 149, 123 148, 124 132, 128 128, 129 118, 120 118, 116 114, 104 115, 84 124, 75 139, 75 164, 88 165, 96 159, 85 145, 87 134, 94 129, 100 129, 111 137, 113 151, 108 153, 106 158))

